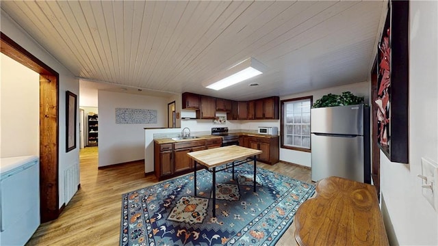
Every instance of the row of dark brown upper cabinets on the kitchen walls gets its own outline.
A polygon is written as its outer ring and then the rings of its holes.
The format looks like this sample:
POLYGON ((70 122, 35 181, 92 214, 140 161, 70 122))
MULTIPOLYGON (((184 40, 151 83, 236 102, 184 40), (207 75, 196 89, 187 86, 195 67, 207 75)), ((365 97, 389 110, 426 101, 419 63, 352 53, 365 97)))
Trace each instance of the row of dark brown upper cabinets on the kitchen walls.
POLYGON ((196 110, 196 119, 214 119, 216 111, 227 112, 227 120, 279 120, 280 115, 278 96, 236 102, 184 92, 182 100, 183 109, 196 110))

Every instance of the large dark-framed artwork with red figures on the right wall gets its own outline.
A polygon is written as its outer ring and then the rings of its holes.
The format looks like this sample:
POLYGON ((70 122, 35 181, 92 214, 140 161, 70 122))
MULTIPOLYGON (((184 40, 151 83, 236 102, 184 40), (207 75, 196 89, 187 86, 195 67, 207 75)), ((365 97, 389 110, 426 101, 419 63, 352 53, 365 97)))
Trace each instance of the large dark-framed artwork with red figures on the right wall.
POLYGON ((409 1, 389 1, 378 44, 377 142, 389 161, 408 163, 409 1))

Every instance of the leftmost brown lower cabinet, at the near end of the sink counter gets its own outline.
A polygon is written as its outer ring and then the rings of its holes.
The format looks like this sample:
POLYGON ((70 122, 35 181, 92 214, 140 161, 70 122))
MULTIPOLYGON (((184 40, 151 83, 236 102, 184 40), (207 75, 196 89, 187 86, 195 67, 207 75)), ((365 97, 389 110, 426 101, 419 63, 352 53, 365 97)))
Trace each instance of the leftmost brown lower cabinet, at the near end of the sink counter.
POLYGON ((154 144, 154 171, 157 178, 173 174, 172 143, 154 144))

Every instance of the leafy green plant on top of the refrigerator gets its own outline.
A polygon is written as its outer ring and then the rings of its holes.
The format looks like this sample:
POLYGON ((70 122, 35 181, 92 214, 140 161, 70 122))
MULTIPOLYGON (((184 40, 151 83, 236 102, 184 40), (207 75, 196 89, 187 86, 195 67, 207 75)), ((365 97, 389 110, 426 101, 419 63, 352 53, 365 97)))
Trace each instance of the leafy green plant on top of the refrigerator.
POLYGON ((355 96, 351 92, 342 92, 341 95, 329 93, 316 100, 313 103, 312 108, 315 109, 320 107, 335 107, 358 104, 363 104, 363 96, 355 96))

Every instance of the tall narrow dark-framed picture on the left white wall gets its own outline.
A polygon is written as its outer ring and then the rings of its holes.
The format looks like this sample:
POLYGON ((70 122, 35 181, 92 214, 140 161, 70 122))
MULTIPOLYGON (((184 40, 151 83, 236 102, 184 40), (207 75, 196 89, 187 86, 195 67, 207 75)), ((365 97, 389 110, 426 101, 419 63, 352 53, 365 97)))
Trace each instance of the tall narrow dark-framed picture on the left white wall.
POLYGON ((66 91, 66 152, 76 148, 77 96, 66 91))

